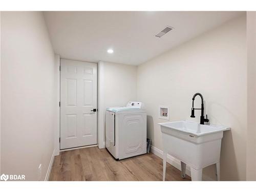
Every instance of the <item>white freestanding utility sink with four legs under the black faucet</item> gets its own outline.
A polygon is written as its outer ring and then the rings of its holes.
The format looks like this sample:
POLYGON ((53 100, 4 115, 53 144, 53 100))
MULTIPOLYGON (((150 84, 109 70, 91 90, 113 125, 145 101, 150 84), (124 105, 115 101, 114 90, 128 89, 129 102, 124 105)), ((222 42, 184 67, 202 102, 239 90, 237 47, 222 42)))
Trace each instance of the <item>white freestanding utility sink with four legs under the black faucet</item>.
POLYGON ((159 123, 161 126, 164 158, 163 180, 165 180, 167 154, 181 161, 182 177, 186 165, 190 167, 191 180, 202 180, 202 169, 216 164, 217 179, 220 180, 220 152, 223 131, 230 127, 203 125, 190 121, 159 123))

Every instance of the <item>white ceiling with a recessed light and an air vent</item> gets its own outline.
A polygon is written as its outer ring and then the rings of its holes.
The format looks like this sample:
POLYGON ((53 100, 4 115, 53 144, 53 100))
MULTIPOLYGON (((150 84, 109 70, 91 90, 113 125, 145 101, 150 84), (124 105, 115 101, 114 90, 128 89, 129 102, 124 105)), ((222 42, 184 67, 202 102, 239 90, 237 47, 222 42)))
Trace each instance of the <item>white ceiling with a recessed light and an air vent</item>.
POLYGON ((44 12, 61 58, 139 65, 244 12, 44 12), (166 26, 175 28, 155 37, 166 26), (112 48, 114 53, 109 54, 112 48))

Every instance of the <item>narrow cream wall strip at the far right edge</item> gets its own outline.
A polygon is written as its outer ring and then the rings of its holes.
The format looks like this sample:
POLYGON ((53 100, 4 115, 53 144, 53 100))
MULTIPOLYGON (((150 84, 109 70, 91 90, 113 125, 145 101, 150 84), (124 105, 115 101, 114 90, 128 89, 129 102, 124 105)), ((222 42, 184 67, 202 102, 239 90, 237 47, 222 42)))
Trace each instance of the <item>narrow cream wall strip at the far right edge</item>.
POLYGON ((256 12, 247 12, 248 127, 246 179, 256 180, 256 12))

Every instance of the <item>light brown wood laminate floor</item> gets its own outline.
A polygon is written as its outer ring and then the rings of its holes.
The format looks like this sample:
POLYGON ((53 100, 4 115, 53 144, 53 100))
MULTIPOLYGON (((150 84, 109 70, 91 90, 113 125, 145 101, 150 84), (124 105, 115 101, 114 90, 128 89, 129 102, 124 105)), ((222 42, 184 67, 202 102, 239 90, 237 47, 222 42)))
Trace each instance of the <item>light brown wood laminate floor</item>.
MULTIPOLYGON (((188 181, 167 163, 166 181, 188 181)), ((97 146, 60 152, 55 156, 50 181, 162 181, 163 161, 150 153, 116 161, 97 146)))

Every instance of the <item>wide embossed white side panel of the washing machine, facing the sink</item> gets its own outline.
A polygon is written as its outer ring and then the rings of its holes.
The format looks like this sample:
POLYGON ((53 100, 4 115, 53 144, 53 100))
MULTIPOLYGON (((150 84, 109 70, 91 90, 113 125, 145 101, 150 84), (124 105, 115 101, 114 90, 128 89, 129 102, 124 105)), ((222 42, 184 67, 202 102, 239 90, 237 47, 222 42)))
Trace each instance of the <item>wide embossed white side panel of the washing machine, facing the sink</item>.
POLYGON ((119 159, 146 153, 146 113, 119 114, 119 159))

